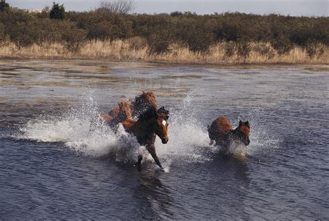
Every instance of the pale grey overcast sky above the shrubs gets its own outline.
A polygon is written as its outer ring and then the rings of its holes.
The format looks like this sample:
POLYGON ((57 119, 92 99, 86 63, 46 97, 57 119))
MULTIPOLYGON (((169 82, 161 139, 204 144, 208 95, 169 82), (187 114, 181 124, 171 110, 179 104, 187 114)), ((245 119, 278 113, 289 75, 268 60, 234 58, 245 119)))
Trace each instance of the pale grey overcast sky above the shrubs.
MULTIPOLYGON (((23 9, 41 9, 52 6, 53 1, 64 3, 66 10, 88 11, 97 8, 101 0, 7 0, 10 6, 23 9)), ((197 14, 246 12, 328 17, 328 0, 135 0, 134 4, 134 12, 147 14, 191 11, 197 14)))

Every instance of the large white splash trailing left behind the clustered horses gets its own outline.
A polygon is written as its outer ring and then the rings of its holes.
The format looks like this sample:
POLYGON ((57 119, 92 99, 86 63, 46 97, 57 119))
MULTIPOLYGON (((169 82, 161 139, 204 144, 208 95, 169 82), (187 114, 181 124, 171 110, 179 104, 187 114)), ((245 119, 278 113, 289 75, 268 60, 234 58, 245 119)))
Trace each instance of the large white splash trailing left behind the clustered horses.
POLYGON ((119 161, 137 157, 138 145, 134 136, 122 126, 113 130, 99 116, 92 97, 80 107, 69 107, 55 116, 42 114, 19 128, 18 139, 43 142, 62 142, 76 152, 93 157, 115 154, 119 161))

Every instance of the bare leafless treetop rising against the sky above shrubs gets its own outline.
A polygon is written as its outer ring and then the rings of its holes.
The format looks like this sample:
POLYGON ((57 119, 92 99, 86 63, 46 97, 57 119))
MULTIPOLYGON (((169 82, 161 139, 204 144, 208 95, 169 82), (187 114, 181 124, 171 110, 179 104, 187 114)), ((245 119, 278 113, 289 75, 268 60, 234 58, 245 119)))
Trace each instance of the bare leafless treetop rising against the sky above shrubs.
POLYGON ((128 14, 134 9, 133 0, 107 0, 99 3, 99 10, 106 12, 128 14))

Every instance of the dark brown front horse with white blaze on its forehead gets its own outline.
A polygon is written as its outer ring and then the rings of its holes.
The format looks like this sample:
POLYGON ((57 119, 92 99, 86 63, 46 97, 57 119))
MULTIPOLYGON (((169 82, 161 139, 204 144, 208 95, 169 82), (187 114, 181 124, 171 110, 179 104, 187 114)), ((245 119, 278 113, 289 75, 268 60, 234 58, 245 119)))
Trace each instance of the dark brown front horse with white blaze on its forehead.
MULTIPOLYGON (((155 107, 151 106, 144 113, 140 114, 140 118, 135 121, 131 117, 128 105, 121 105, 121 107, 124 108, 124 112, 126 112, 127 116, 127 119, 122 122, 124 129, 128 133, 134 134, 140 145, 145 145, 146 150, 149 151, 155 163, 163 170, 158 156, 155 153, 155 137, 158 135, 162 143, 168 142, 169 137, 167 129, 169 124, 167 120, 169 118, 169 111, 167 111, 165 107, 161 107, 157 110, 155 107)), ((137 165, 140 165, 141 161, 142 155, 139 155, 137 165)))

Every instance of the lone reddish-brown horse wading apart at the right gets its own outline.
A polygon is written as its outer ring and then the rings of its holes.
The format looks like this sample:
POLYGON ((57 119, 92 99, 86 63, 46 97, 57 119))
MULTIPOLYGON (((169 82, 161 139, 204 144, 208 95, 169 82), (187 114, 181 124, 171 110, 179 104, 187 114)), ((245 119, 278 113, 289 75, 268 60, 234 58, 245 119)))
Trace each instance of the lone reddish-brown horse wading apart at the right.
POLYGON ((239 121, 239 126, 233 130, 230 121, 224 116, 219 116, 208 126, 210 145, 215 141, 216 145, 228 146, 233 141, 249 145, 250 125, 249 122, 239 121))

